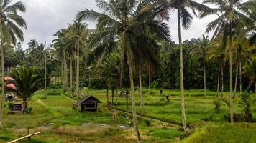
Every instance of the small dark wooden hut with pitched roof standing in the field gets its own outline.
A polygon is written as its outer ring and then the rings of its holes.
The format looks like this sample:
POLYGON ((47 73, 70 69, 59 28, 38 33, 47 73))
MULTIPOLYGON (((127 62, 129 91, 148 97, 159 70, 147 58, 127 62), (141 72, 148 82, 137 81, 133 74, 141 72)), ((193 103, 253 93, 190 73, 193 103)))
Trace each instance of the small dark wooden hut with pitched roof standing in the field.
POLYGON ((96 99, 92 95, 88 95, 86 97, 83 97, 83 99, 80 99, 78 102, 76 102, 74 107, 81 106, 81 112, 97 112, 98 111, 98 103, 101 103, 99 99, 96 99))

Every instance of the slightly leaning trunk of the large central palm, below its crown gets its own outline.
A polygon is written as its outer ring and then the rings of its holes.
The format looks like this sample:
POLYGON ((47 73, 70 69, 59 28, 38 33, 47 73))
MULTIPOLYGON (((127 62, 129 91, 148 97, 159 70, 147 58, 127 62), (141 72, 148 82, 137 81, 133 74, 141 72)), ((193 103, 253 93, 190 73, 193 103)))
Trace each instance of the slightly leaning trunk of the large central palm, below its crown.
POLYGON ((132 65, 129 62, 129 81, 131 84, 131 96, 132 96, 132 117, 133 117, 133 124, 134 129, 137 134, 138 142, 142 142, 142 139, 140 137, 139 127, 137 123, 137 114, 136 114, 136 105, 135 105, 135 97, 134 97, 134 82, 133 82, 133 75, 132 75, 132 65))

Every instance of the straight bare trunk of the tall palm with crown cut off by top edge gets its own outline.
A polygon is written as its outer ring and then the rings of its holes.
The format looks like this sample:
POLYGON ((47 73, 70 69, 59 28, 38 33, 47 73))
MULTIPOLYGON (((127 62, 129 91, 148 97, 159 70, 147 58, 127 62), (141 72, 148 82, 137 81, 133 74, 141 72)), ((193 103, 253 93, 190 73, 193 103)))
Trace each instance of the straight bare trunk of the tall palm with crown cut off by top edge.
POLYGON ((180 47, 180 94, 181 94, 181 116, 184 132, 187 133, 187 123, 185 114, 185 102, 184 102, 184 83, 183 83, 183 48, 181 39, 181 26, 180 26, 180 9, 178 8, 178 41, 180 47))

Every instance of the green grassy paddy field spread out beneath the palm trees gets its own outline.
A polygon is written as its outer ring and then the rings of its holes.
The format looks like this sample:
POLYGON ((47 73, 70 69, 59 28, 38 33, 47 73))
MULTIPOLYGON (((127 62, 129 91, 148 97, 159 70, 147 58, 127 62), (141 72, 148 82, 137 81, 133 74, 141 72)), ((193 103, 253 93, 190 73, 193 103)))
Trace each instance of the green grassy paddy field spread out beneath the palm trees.
MULTIPOLYGON (((215 92, 203 90, 186 91, 186 117, 191 134, 185 136, 180 126, 180 92, 145 89, 145 108, 139 106, 136 92, 137 114, 143 142, 256 142, 256 124, 237 122, 229 124, 229 107, 221 101, 216 111, 215 92), (170 102, 165 96, 169 95, 170 102)), ((81 94, 92 94, 102 103, 99 112, 81 113, 73 108, 75 99, 62 94, 61 89, 48 89, 47 98, 37 92, 29 100, 32 113, 7 114, 4 109, 3 127, 0 128, 0 142, 9 142, 30 133, 42 132, 22 142, 137 142, 133 131, 131 103, 127 109, 126 98, 114 94, 113 109, 106 106, 106 90, 83 89, 81 94), (122 111, 119 111, 121 109, 122 111), (118 114, 113 120, 113 112, 118 114)), ((254 97, 255 98, 255 97, 254 97)), ((109 93, 111 100, 111 93, 109 93)), ((228 101, 229 93, 224 93, 228 101)), ((235 113, 242 112, 239 97, 235 99, 235 113)), ((252 103, 253 118, 256 119, 256 104, 252 103)))

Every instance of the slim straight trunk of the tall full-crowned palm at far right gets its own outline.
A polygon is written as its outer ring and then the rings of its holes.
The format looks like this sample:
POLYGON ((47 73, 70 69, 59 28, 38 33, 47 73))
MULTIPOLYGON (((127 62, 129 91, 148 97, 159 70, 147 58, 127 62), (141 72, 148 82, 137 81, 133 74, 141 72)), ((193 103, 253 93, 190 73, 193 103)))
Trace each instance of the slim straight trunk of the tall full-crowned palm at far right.
POLYGON ((233 46, 232 46, 232 25, 229 24, 229 88, 230 88, 230 122, 234 123, 233 109, 233 46))

